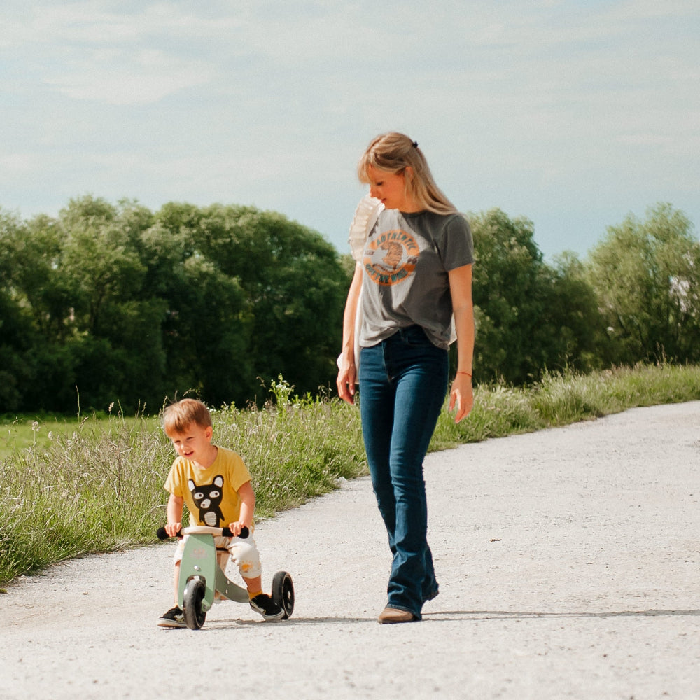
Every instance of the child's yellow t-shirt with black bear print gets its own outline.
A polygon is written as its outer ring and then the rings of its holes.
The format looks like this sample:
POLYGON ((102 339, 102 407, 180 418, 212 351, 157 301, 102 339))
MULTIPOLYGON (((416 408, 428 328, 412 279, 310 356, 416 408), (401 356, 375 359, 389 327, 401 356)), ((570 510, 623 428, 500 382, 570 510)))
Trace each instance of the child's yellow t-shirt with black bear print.
POLYGON ((176 458, 165 479, 165 490, 185 501, 190 525, 228 527, 240 517, 238 490, 251 480, 250 472, 233 450, 217 450, 214 463, 207 469, 198 468, 189 459, 176 458))

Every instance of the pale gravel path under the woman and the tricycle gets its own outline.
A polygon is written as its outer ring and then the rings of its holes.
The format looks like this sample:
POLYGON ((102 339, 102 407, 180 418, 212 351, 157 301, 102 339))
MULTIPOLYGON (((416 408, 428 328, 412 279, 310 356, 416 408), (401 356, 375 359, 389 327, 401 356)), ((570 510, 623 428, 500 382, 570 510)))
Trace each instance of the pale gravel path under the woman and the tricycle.
POLYGON ((440 596, 379 625, 370 482, 258 526, 293 617, 215 606, 155 625, 173 545, 69 561, 0 596, 0 699, 700 697, 700 402, 426 459, 440 596))

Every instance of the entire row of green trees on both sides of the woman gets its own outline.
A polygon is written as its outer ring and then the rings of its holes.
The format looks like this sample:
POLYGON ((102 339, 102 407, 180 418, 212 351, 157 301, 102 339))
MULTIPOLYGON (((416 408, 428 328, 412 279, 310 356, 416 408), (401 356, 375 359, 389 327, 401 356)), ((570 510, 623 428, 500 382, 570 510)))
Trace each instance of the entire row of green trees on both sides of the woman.
MULTIPOLYGON (((700 245, 660 204, 550 265, 533 225, 493 209, 475 238, 475 378, 700 360, 700 245)), ((260 400, 279 374, 333 386, 352 273, 323 237, 253 207, 71 200, 0 210, 0 413, 260 400)))

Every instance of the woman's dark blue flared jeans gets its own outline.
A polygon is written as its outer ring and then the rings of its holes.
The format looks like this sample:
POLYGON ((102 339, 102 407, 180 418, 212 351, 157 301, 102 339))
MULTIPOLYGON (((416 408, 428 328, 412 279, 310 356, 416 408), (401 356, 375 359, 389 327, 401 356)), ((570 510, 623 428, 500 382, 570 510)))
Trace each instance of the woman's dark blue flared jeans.
POLYGON ((423 458, 447 391, 447 350, 420 326, 398 330, 360 351, 360 416, 374 495, 393 556, 387 587, 390 608, 421 619, 437 595, 428 547, 423 458))

